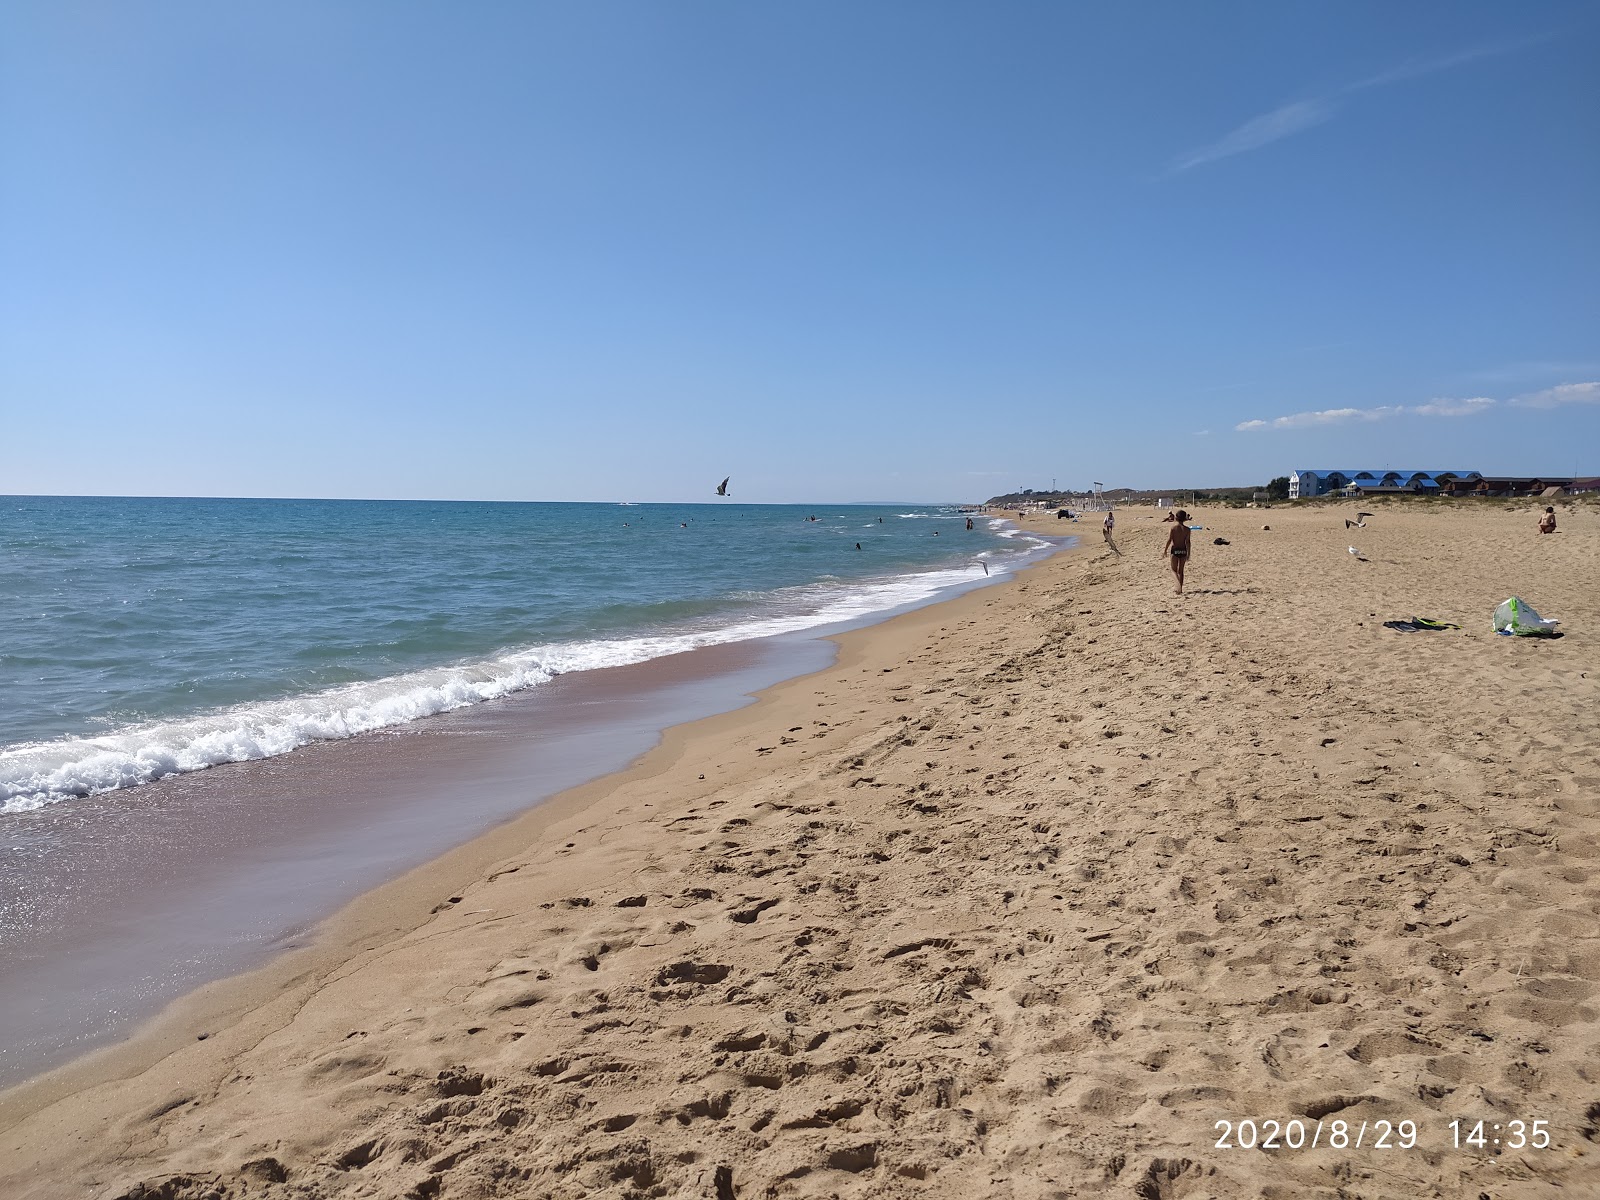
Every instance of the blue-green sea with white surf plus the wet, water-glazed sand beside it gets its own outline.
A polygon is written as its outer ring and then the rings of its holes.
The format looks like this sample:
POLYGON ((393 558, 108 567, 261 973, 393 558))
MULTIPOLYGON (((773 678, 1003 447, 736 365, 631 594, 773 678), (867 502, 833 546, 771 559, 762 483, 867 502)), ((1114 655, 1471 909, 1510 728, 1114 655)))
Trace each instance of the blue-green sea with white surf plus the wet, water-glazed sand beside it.
POLYGON ((0 498, 0 1085, 1058 541, 955 506, 0 498))

